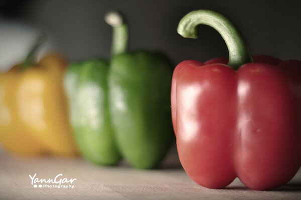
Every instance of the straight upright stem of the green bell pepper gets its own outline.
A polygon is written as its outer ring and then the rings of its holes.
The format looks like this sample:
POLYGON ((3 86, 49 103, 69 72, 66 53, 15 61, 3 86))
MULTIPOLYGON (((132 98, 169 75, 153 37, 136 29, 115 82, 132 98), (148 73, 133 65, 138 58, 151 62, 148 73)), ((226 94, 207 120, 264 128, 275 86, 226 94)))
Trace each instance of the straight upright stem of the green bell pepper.
POLYGON ((127 49, 128 28, 124 17, 112 10, 105 14, 105 21, 113 27, 112 56, 123 53, 127 49))

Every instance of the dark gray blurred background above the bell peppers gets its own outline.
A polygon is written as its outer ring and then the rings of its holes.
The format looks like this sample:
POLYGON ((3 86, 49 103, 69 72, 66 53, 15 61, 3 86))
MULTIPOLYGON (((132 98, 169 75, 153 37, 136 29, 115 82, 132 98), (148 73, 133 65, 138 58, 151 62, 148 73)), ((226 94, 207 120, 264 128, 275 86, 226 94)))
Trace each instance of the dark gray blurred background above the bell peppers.
POLYGON ((227 56, 222 37, 208 26, 198 39, 182 38, 179 20, 195 9, 224 13, 240 28, 252 53, 301 59, 299 0, 4 0, 2 17, 22 20, 53 35, 69 59, 110 55, 111 27, 103 18, 120 10, 130 27, 130 49, 160 49, 174 64, 227 56))

